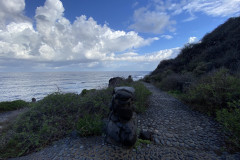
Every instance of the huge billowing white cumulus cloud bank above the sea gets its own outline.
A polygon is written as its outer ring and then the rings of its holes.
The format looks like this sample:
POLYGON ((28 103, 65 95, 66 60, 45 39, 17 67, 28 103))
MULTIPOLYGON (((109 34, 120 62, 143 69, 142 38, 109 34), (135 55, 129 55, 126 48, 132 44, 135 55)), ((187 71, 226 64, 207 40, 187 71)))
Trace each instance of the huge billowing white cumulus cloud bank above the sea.
POLYGON ((7 12, 0 11, 4 13, 0 16, 5 17, 0 29, 0 57, 12 59, 12 63, 22 60, 35 62, 36 66, 61 68, 73 64, 96 67, 107 61, 143 61, 143 56, 130 51, 159 39, 144 39, 134 31, 112 30, 106 24, 99 25, 92 17, 87 18, 85 15, 71 23, 64 17, 64 7, 60 0, 46 0, 44 6, 38 7, 36 27, 33 27, 33 23, 23 15, 24 0, 8 2, 4 1, 7 12), (7 13, 12 15, 9 19, 5 15, 7 13))

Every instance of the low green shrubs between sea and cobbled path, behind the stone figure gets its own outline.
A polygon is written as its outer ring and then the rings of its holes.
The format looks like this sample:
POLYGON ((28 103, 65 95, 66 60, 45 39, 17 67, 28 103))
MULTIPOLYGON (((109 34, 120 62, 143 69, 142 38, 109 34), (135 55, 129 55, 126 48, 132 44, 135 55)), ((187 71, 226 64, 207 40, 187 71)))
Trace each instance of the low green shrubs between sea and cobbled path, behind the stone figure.
MULTIPOLYGON (((140 82, 128 82, 136 90, 136 107, 145 110, 150 92, 140 82)), ((0 136, 0 157, 26 155, 77 130, 81 136, 99 135, 108 117, 113 88, 83 90, 81 94, 56 92, 31 104, 0 136)))

